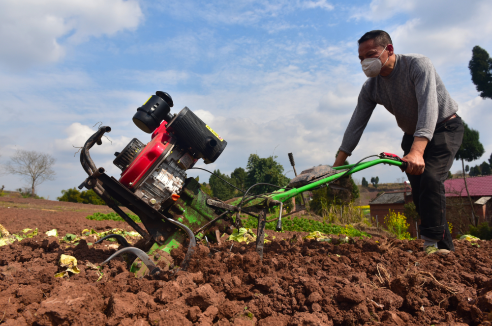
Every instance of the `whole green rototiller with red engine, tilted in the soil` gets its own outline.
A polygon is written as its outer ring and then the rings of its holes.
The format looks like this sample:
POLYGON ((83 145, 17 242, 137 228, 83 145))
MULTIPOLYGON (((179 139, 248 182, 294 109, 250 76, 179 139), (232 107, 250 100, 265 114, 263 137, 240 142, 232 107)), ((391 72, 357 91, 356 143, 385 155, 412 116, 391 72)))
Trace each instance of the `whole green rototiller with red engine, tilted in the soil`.
MULTIPOLYGON (((258 219, 256 251, 262 257, 269 208, 279 206, 280 213, 276 219, 277 231, 281 231, 282 203, 299 193, 324 187, 341 177, 379 163, 406 169, 406 162, 398 156, 381 153, 373 155, 379 159, 367 163, 361 163, 367 159, 364 158, 356 164, 335 168, 320 165, 297 175, 294 158, 289 153, 290 163, 296 174, 289 185, 275 186, 277 191, 261 195, 249 193, 256 186, 253 185, 247 191, 240 190, 244 192, 242 197, 222 202, 203 192, 194 178, 186 178, 186 170, 194 168, 193 165, 200 159, 206 164, 215 162, 227 142, 190 109, 185 107, 179 113, 171 114, 172 107, 171 96, 158 91, 137 109, 133 122, 142 131, 152 134, 152 139, 144 144, 133 138, 121 152, 115 153, 113 163, 122 170, 119 180, 108 176, 103 167, 96 167, 89 154, 89 149, 94 144, 101 145, 101 137, 111 131, 110 127, 101 126, 82 148, 80 163, 89 177, 79 189, 93 189, 109 207, 142 235, 148 245, 152 245, 146 253, 130 246, 120 235, 106 236, 99 242, 115 238, 124 248, 101 265, 120 254, 133 253, 138 258, 132 262, 131 271, 137 276, 157 275, 170 269, 186 270, 196 240, 220 242, 220 236, 224 232, 231 234, 234 228, 239 230, 242 227, 240 213, 258 219), (140 217, 147 231, 128 217, 115 200, 140 217), (260 213, 251 213, 252 207, 260 209, 260 213), (181 266, 175 268, 170 251, 184 245, 186 239, 189 239, 187 253, 181 266), (164 262, 159 264, 160 268, 156 266, 157 261, 164 262)), ((293 213, 296 212, 288 215, 293 213)), ((285 216, 287 214, 283 215, 285 216)))

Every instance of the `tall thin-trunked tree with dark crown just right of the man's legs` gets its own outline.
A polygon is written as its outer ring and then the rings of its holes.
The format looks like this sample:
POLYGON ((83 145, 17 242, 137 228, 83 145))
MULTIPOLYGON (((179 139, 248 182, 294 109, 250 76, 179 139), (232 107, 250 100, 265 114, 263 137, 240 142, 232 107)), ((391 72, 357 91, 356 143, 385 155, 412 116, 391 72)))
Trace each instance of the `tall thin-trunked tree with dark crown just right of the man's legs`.
MULTIPOLYGON (((473 208, 473 202, 471 201, 470 192, 468 191, 468 185, 466 184, 466 175, 464 171, 464 161, 472 162, 478 160, 482 155, 484 155, 484 146, 480 142, 480 134, 478 131, 470 129, 466 123, 463 122, 464 134, 463 142, 461 147, 456 153, 455 159, 461 160, 461 167, 463 168, 463 181, 466 193, 468 195, 468 200, 470 201, 471 214, 472 214, 472 224, 477 226, 478 220, 475 217, 475 210, 473 208)), ((471 172, 471 171, 470 171, 471 172)))

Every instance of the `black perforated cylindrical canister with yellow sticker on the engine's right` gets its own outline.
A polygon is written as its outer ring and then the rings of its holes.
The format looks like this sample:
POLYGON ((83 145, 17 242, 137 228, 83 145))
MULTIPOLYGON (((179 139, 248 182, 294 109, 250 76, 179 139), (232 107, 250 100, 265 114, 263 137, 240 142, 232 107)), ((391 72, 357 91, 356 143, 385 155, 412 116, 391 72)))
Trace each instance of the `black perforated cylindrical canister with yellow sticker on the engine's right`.
POLYGON ((215 162, 227 145, 227 141, 186 107, 169 122, 166 129, 191 147, 204 159, 205 164, 215 162))

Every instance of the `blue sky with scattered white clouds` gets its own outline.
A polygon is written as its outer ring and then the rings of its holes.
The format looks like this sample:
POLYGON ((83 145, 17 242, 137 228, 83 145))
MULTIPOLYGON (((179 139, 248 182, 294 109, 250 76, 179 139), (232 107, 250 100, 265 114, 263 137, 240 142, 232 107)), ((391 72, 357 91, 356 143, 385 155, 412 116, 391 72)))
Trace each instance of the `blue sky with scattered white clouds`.
MULTIPOLYGON (((395 53, 431 58, 463 120, 492 153, 491 100, 480 98, 468 61, 479 45, 492 52, 490 0, 0 0, 0 163, 16 150, 57 159, 55 181, 37 194, 56 199, 87 177, 75 147, 98 122, 111 126, 92 150, 97 166, 118 177, 114 152, 134 137, 132 116, 161 90, 210 125, 228 145, 215 163, 229 174, 250 154, 277 156, 286 175, 333 164, 362 84, 357 40, 383 29, 395 53)), ((349 158, 402 155, 403 132, 377 106, 349 158)), ((461 169, 455 161, 452 172, 461 169)), ((208 182, 206 172, 190 170, 208 182)), ((395 166, 353 175, 403 180, 395 166)), ((26 186, 0 175, 6 190, 26 186)))

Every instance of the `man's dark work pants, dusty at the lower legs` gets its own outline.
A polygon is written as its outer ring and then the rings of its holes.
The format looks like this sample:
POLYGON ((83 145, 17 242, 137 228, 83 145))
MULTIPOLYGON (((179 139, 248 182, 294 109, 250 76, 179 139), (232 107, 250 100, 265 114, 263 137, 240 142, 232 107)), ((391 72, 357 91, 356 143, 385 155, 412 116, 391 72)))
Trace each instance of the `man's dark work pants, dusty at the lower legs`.
MULTIPOLYGON (((438 124, 432 140, 424 151, 426 167, 421 175, 410 175, 413 202, 420 215, 420 234, 439 240, 439 249, 455 250, 446 221, 444 180, 453 165, 456 152, 463 140, 463 123, 460 117, 438 124)), ((407 155, 413 144, 412 135, 403 135, 401 149, 407 155)))

